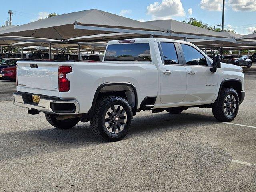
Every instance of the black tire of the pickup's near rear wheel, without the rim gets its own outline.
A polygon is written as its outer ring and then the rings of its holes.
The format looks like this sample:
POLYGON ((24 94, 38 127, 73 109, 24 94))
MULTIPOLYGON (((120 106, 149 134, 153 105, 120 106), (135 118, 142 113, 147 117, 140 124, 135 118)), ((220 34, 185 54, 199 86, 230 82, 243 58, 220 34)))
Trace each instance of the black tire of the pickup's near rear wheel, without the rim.
POLYGON ((103 138, 108 142, 122 140, 122 138, 128 134, 132 124, 132 108, 128 101, 120 96, 105 96, 96 103, 90 124, 92 131, 100 138, 103 138), (118 133, 111 133, 105 126, 105 116, 107 111, 114 105, 122 106, 127 114, 126 124, 118 133))

